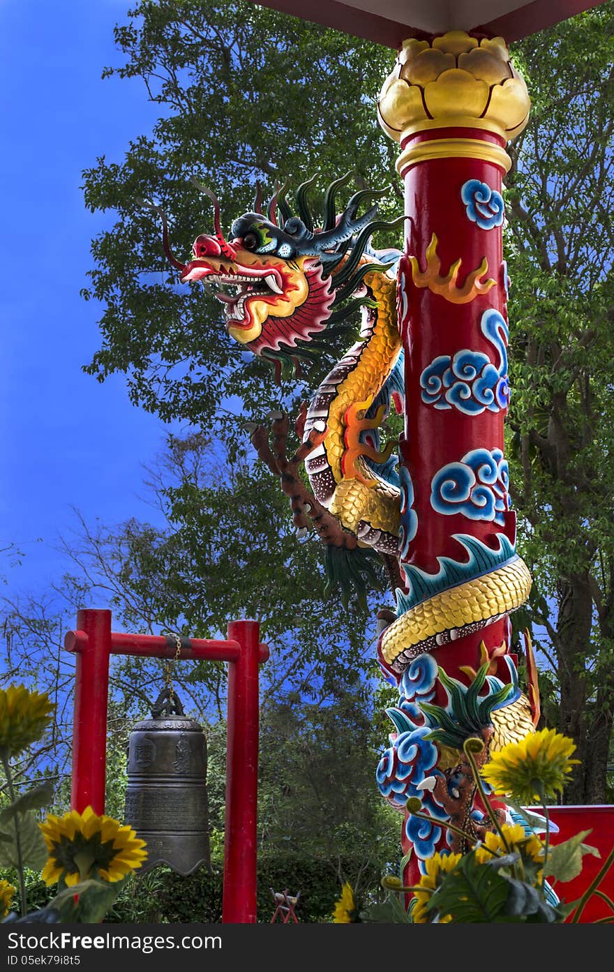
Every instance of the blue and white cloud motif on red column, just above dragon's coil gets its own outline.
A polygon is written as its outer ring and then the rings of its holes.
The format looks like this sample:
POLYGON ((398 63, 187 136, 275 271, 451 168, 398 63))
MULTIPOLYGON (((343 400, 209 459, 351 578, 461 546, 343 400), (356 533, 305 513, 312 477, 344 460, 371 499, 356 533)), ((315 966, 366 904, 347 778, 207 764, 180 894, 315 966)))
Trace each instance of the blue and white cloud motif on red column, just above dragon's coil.
POLYGON ((504 524, 509 509, 509 468, 500 449, 472 449, 432 477, 430 504, 446 516, 504 524))

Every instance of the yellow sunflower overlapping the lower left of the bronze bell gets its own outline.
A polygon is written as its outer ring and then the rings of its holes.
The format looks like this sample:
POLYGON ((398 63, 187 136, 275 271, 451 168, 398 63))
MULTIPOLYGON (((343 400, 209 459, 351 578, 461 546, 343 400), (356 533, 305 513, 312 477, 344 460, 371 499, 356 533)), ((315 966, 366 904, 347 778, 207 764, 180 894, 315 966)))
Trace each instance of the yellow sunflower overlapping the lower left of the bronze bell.
POLYGON ((39 827, 49 851, 41 874, 48 885, 63 879, 70 887, 90 877, 120 881, 147 857, 145 841, 131 827, 112 816, 97 816, 91 807, 83 814, 50 814, 39 827))

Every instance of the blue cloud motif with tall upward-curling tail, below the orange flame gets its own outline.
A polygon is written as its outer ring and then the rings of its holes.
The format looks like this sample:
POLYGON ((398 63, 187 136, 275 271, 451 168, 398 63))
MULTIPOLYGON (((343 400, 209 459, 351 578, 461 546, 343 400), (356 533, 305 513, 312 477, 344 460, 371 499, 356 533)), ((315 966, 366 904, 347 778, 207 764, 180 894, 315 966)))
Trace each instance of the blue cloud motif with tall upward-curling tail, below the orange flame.
POLYGON ((422 399, 437 409, 457 408, 464 415, 499 412, 509 406, 507 339, 505 319, 491 308, 482 315, 480 330, 494 346, 498 365, 481 351, 463 348, 451 358, 439 355, 420 376, 422 399))

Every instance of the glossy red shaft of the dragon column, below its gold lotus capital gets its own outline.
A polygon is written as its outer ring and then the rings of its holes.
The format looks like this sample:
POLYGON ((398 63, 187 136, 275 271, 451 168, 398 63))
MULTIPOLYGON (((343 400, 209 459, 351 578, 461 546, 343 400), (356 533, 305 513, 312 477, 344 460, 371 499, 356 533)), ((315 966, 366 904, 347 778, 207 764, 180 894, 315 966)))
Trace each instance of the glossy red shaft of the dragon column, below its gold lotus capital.
MULTIPOLYGON (((507 369, 501 363, 505 354, 501 348, 507 343, 502 327, 507 326, 501 232, 503 165, 502 161, 496 164, 453 154, 456 139, 460 145, 472 139, 501 148, 503 140, 480 129, 441 128, 408 136, 401 148, 411 159, 412 148, 435 139, 448 142, 450 156, 410 160, 401 170, 410 220, 401 276, 408 299, 400 322, 406 404, 400 458, 411 475, 411 515, 415 517, 415 535, 401 551, 401 562, 427 574, 438 572, 441 560, 437 558, 466 563, 468 551, 459 537, 477 538, 493 550, 501 536, 511 547, 516 542, 516 517, 509 509, 503 455, 508 399, 507 369), (477 203, 479 222, 470 219, 476 216, 476 186, 491 192, 489 203, 482 208, 490 206, 496 213, 498 205, 498 217, 482 218, 477 203), (466 187, 468 203, 463 201, 466 187), (441 293, 428 284, 421 286, 435 268, 438 276, 450 277, 451 267, 459 261, 456 281, 451 279, 440 288, 441 293), (480 267, 484 271, 469 287, 471 274, 480 267), (497 380, 499 370, 503 373, 497 380), (469 375, 475 375, 473 380, 469 375)), ((488 195, 486 191, 482 194, 488 195)), ((467 579, 478 573, 480 565, 467 579)), ((482 573, 487 572, 482 569, 482 573)), ((459 628, 441 637, 453 637, 459 628)), ((459 677, 460 665, 478 668, 482 641, 491 648, 509 643, 507 618, 447 642, 454 647, 445 653, 448 673, 459 677)), ((442 649, 433 646, 431 650, 439 661, 442 649)), ((445 698, 442 695, 437 701, 445 698)))

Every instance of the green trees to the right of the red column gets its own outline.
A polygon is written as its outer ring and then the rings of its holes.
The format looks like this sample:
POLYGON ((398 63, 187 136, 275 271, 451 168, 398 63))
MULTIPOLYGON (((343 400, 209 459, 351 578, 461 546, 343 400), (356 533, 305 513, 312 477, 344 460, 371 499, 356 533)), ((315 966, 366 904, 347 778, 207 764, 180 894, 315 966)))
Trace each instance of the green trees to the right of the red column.
POLYGON ((614 7, 512 51, 532 100, 505 192, 507 451, 534 578, 518 621, 543 632, 546 718, 582 760, 565 802, 602 803, 614 711, 614 7))

